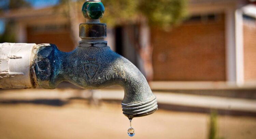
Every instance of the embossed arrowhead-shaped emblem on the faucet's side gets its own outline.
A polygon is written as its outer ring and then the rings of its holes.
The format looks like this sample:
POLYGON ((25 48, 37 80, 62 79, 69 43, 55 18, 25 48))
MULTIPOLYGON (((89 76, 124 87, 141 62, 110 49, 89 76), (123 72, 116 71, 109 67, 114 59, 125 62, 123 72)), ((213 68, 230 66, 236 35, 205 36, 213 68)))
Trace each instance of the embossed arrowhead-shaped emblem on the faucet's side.
POLYGON ((97 74, 99 69, 99 64, 96 60, 87 60, 84 63, 84 72, 87 76, 87 79, 93 79, 94 76, 97 74))

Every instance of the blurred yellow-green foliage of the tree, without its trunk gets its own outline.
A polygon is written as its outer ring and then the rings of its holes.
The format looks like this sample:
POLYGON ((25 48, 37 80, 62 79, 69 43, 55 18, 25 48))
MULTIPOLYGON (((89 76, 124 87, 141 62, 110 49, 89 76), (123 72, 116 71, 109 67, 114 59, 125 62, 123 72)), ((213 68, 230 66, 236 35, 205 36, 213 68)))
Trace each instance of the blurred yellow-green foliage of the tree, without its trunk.
POLYGON ((187 0, 101 0, 105 7, 102 21, 108 26, 143 21, 166 27, 186 16, 187 0))

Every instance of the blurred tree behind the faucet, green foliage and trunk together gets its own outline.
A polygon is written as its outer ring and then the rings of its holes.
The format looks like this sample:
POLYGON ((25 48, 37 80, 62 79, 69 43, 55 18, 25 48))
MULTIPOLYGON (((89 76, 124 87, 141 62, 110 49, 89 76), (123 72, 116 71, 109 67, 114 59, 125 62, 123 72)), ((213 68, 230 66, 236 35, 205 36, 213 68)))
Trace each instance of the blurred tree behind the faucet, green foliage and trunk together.
POLYGON ((130 42, 143 61, 144 74, 153 80, 153 46, 150 43, 152 26, 168 29, 186 16, 187 0, 101 0, 105 6, 102 22, 108 26, 136 24, 138 33, 127 29, 130 42), (146 41, 145 41, 146 40, 146 41))

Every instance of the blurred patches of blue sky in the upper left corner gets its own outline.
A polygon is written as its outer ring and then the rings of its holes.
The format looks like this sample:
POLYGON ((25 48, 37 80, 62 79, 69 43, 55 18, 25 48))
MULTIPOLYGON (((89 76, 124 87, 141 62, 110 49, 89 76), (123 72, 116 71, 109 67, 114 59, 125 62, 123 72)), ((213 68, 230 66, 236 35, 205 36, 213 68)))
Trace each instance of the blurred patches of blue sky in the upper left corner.
MULTIPOLYGON (((26 0, 31 3, 34 8, 43 8, 46 6, 53 6, 58 4, 59 0, 26 0)), ((6 1, 0 1, 0 5, 5 4, 6 1)), ((0 20, 0 34, 4 32, 5 21, 0 20)))

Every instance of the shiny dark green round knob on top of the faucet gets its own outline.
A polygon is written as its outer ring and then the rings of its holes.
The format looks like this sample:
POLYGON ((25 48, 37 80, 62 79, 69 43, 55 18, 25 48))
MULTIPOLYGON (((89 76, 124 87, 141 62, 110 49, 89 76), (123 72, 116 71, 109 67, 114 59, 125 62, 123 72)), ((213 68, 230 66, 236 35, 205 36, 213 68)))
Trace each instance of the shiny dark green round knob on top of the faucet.
POLYGON ((87 19, 100 19, 104 11, 104 6, 100 0, 86 0, 82 7, 83 16, 87 19))

